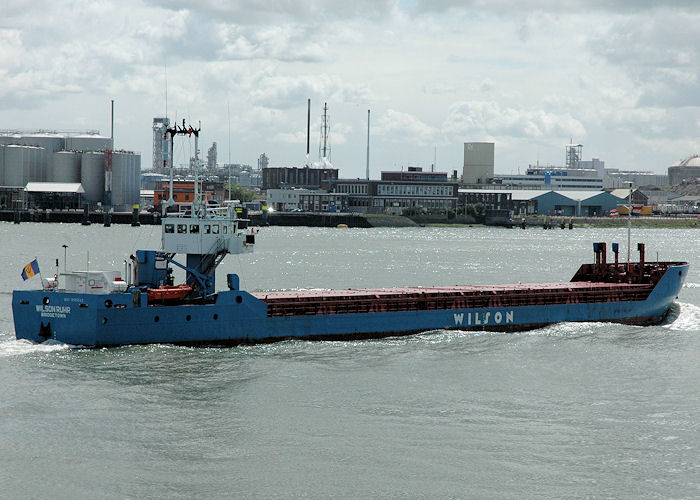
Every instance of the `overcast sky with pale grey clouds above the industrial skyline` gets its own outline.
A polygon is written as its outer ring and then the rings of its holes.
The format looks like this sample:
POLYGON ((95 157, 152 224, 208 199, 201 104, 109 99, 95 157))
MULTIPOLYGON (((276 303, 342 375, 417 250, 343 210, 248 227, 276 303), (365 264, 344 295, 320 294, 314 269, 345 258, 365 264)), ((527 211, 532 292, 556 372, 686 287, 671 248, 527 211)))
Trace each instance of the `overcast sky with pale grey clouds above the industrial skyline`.
MULTIPOLYGON (((10 1, 0 17, 0 128, 110 131, 150 168, 152 119, 201 121, 219 162, 301 166, 328 103, 331 160, 364 177, 562 165, 665 173, 700 153, 696 0, 10 1), (229 134, 230 123, 230 134, 229 134), (230 139, 229 139, 230 137, 230 139), (230 144, 230 148, 229 148, 230 144), (229 152, 230 149, 230 152, 229 152)), ((181 144, 180 161, 193 147, 181 144)))

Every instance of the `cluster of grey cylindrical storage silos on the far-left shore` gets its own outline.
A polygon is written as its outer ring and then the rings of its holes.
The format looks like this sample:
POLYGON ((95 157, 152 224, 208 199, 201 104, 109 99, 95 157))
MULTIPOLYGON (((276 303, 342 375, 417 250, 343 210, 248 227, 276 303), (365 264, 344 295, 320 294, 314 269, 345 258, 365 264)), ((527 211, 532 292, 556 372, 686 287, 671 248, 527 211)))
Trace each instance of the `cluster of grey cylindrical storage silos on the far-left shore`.
MULTIPOLYGON (((109 137, 97 131, 0 132, 0 191, 26 188, 28 183, 48 183, 42 192, 50 193, 51 183, 56 189, 79 183, 84 193, 76 188, 76 194, 80 194, 82 203, 131 211, 139 203, 141 156, 131 151, 110 151, 111 143, 109 137), (111 175, 106 177, 106 171, 111 175), (109 182, 106 184, 105 178, 110 177, 111 191, 106 194, 109 182)), ((34 189, 38 189, 36 184, 34 189)))

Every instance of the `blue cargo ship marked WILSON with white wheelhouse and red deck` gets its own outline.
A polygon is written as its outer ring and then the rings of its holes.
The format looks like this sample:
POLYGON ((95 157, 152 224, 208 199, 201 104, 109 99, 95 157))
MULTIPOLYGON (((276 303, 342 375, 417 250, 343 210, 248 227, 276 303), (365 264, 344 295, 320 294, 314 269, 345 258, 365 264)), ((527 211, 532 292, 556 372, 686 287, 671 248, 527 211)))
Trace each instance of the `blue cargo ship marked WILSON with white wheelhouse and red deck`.
POLYGON ((171 214, 162 248, 139 250, 120 271, 72 271, 13 292, 18 339, 75 346, 173 343, 231 345, 282 339, 354 339, 432 330, 518 331, 558 322, 653 324, 664 320, 688 273, 686 262, 594 263, 569 282, 357 290, 246 292, 236 274, 216 291, 229 253, 252 252, 256 231, 231 207, 171 214), (194 213, 192 213, 194 212, 194 213), (185 256, 184 263, 176 256, 185 256), (185 283, 173 283, 173 269, 185 283))

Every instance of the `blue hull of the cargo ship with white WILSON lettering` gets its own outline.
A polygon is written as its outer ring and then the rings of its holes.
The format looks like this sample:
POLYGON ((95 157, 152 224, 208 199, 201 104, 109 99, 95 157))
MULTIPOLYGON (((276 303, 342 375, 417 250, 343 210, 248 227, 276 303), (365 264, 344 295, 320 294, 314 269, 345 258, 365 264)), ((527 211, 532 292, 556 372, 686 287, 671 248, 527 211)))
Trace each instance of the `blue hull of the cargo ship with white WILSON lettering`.
POLYGON ((12 309, 18 339, 88 347, 370 338, 442 329, 516 331, 581 321, 648 324, 663 320, 687 273, 688 264, 670 264, 644 300, 628 301, 602 296, 585 303, 538 300, 518 306, 275 316, 268 314, 264 300, 235 289, 219 292, 207 303, 178 305, 149 305, 132 291, 36 290, 15 291, 12 309))

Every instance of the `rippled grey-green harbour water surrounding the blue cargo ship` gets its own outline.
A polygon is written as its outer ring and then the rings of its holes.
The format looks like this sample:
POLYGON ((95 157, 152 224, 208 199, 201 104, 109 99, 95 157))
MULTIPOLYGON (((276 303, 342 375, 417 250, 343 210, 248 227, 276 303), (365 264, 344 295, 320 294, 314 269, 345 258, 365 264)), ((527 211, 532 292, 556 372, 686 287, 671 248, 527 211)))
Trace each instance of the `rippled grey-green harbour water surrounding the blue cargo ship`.
MULTIPOLYGON (((123 269, 159 229, 0 223, 5 498, 696 498, 700 233, 633 229, 687 260, 663 325, 565 323, 352 342, 80 350, 14 339, 11 292, 123 269), (61 262, 61 267, 63 263, 61 262)), ((263 228, 249 290, 566 281, 621 229, 263 228)), ((634 255, 634 254, 633 254, 634 255)))

